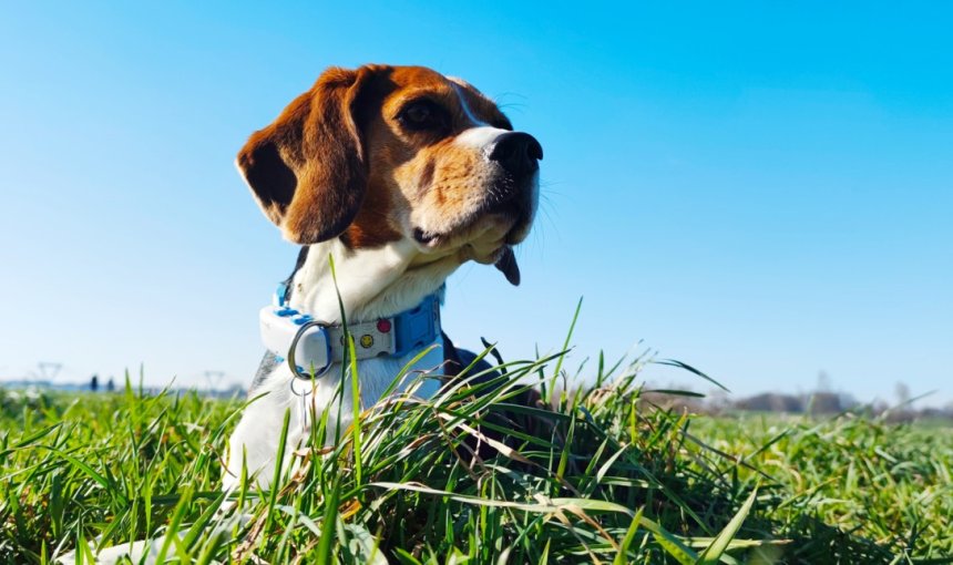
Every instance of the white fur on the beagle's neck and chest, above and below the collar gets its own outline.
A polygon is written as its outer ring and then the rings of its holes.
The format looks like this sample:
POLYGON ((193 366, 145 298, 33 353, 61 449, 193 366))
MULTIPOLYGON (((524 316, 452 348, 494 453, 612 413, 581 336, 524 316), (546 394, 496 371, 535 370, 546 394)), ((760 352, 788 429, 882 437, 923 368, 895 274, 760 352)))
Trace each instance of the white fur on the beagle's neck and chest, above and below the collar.
MULTIPOLYGON (((452 257, 414 267, 420 251, 406 239, 387 244, 378 249, 350 250, 339 239, 314 245, 305 265, 293 280, 290 306, 316 319, 340 322, 340 306, 331 277, 329 256, 334 257, 337 288, 348 320, 366 321, 393 316, 418 305, 426 296, 437 291, 443 280, 457 268, 452 257)), ((443 361, 442 340, 413 368, 413 371, 437 369, 443 361)), ((402 358, 373 358, 358 362, 360 405, 375 404, 383 396, 400 370, 420 350, 402 358)), ((406 390, 414 374, 409 374, 396 390, 406 390)), ((433 379, 426 379, 416 394, 429 397, 439 389, 433 379)), ((314 413, 320 418, 329 410, 327 439, 334 441, 337 432, 344 432, 353 421, 351 382, 341 383, 340 363, 331 366, 324 377, 315 382, 314 390, 307 381, 296 379, 287 363, 280 363, 266 378, 254 396, 263 394, 245 409, 228 442, 228 461, 223 473, 223 487, 234 489, 242 474, 243 460, 249 474, 257 473, 255 482, 265 489, 271 481, 278 442, 285 412, 290 411, 288 449, 283 465, 291 462, 290 452, 307 441, 314 413), (341 386, 342 384, 342 386, 341 386), (293 391, 294 387, 294 391, 293 391), (342 394, 336 398, 340 387, 342 394), (306 394, 303 397, 303 394, 306 394), (339 412, 340 410, 340 412, 339 412), (337 414, 340 413, 340 420, 337 414)))

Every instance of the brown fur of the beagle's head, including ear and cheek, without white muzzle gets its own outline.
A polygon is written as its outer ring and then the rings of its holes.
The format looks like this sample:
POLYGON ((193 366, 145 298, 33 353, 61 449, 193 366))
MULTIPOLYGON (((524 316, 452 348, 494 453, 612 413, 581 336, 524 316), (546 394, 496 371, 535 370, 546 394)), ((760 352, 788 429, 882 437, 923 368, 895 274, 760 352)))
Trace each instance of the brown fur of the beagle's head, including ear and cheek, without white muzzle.
POLYGON ((278 119, 255 132, 238 165, 285 237, 314 244, 340 236, 379 247, 408 233, 414 210, 448 225, 484 196, 485 160, 452 143, 478 120, 511 129, 495 104, 463 81, 422 66, 331 68, 278 119), (426 97, 445 111, 447 131, 410 131, 401 110, 426 97))

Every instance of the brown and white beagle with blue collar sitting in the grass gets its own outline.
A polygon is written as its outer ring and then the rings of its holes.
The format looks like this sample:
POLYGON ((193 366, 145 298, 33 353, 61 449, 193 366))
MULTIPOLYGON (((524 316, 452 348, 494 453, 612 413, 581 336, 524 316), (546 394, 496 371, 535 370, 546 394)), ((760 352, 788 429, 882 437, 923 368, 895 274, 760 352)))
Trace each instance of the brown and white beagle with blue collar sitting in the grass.
POLYGON ((332 410, 339 431, 350 423, 345 323, 362 408, 439 390, 437 379, 392 387, 417 358, 408 374, 459 370, 461 353, 440 329, 444 280, 473 260, 519 285, 513 246, 533 223, 542 157, 475 88, 421 66, 328 69, 252 134, 238 170, 284 238, 303 247, 259 315, 267 352, 229 440, 226 490, 243 466, 267 486, 262 471, 274 469, 286 411, 290 446, 308 438, 311 414, 332 410))

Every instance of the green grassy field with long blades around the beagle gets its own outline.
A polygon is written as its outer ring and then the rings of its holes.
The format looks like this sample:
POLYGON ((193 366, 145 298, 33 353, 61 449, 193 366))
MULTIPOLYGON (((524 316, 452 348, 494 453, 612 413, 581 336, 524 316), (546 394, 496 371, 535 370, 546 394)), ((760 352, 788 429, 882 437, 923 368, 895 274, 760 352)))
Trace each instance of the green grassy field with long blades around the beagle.
POLYGON ((593 390, 521 411, 545 438, 475 460, 467 438, 486 448, 486 415, 529 378, 553 390, 560 359, 508 363, 478 400, 391 401, 228 500, 242 400, 0 390, 0 562, 175 532, 162 552, 187 563, 953 563, 953 430, 653 409, 646 362, 600 363, 593 390))

